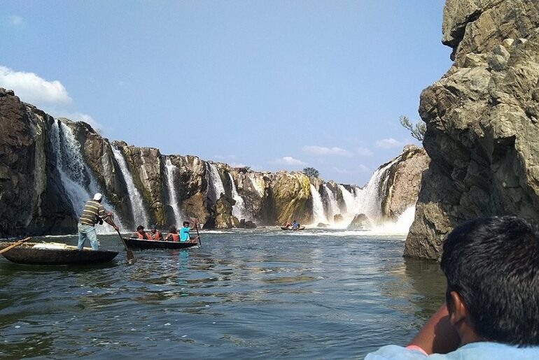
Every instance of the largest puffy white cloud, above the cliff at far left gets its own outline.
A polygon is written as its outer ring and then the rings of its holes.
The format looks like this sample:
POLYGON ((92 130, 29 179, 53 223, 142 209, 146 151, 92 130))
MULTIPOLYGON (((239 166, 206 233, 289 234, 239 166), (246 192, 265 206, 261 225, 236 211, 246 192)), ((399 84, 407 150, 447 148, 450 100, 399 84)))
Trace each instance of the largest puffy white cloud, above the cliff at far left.
POLYGON ((47 81, 35 73, 13 71, 6 66, 0 66, 0 87, 13 89, 22 101, 38 107, 72 102, 62 82, 47 81))

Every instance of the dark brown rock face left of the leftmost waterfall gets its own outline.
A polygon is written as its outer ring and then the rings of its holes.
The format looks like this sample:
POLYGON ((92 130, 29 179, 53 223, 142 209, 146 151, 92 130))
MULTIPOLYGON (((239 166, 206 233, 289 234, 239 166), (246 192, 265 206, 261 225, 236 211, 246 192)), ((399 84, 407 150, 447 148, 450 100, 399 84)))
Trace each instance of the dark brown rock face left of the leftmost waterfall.
POLYGON ((50 151, 50 117, 0 88, 0 238, 76 225, 50 151))

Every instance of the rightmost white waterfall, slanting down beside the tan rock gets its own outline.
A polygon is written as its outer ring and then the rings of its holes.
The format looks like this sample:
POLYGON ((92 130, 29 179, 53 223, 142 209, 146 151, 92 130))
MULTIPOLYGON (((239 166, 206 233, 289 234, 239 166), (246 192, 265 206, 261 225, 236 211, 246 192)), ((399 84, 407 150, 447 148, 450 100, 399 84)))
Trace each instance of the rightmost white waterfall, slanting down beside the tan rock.
MULTIPOLYGON (((395 159, 396 161, 396 159, 395 159)), ((372 174, 367 185, 363 189, 356 188, 356 208, 357 213, 363 213, 374 222, 381 219, 381 195, 385 193, 385 187, 388 180, 386 171, 395 161, 390 162, 386 166, 377 169, 372 174)))

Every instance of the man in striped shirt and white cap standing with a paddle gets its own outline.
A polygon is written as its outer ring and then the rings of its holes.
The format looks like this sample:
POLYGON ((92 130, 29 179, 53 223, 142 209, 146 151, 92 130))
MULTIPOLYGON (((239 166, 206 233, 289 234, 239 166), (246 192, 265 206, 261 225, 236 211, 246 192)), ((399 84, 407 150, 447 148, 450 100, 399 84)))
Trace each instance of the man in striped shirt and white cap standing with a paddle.
POLYGON ((97 233, 95 232, 95 224, 103 224, 106 222, 111 225, 116 231, 118 226, 113 222, 113 214, 106 212, 102 205, 103 195, 96 193, 92 200, 86 201, 83 209, 83 215, 80 215, 78 219, 78 250, 83 250, 84 242, 86 239, 90 240, 92 250, 99 250, 99 240, 97 240, 97 233))

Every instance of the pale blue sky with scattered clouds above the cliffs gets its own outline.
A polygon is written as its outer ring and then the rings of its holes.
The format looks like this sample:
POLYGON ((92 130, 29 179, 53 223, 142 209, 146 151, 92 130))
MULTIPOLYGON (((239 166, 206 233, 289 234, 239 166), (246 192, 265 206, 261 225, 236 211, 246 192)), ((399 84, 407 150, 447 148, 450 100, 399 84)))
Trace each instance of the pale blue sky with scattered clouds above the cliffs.
POLYGON ((442 0, 3 1, 0 87, 110 140, 365 185, 449 69, 442 0))

